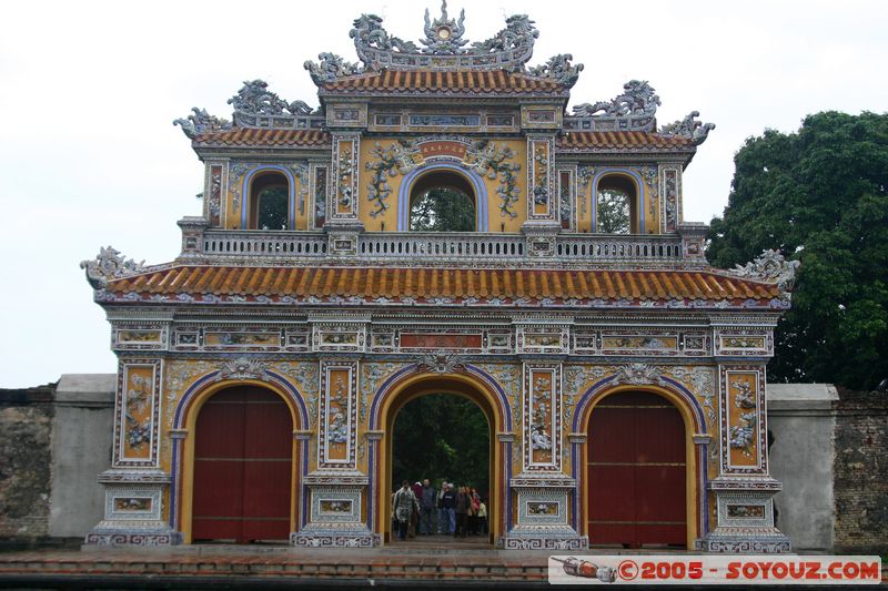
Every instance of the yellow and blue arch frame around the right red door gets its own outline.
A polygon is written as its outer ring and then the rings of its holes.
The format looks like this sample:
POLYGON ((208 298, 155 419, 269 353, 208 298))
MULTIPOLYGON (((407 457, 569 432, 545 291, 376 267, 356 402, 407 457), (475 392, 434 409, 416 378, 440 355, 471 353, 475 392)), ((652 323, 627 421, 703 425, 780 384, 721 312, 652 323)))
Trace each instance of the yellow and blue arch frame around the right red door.
POLYGON ((603 378, 589 386, 577 401, 571 424, 571 476, 576 480, 573 527, 588 536, 587 507, 589 495, 588 428, 595 407, 613 394, 643 391, 655 394, 676 407, 685 424, 685 510, 687 514, 687 548, 694 549, 696 540, 709 531, 708 447, 703 407, 682 383, 662 376, 656 384, 619 384, 615 376, 603 378), (582 528, 582 531, 581 531, 582 528))

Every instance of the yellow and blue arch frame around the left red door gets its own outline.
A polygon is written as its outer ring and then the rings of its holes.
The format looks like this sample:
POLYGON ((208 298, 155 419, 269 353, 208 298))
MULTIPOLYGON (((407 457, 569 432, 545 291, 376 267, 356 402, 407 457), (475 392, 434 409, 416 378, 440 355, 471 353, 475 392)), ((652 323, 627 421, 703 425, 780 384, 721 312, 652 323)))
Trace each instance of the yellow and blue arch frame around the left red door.
POLYGON ((184 543, 191 542, 191 511, 194 478, 194 434, 198 415, 214 394, 236 386, 258 386, 280 396, 290 409, 293 425, 293 467, 291 480, 291 531, 299 531, 307 522, 309 499, 302 481, 309 472, 309 437, 302 436, 310 426, 305 399, 284 376, 265 371, 268 379, 223 379, 221 371, 212 371, 196 379, 182 395, 173 412, 172 461, 170 465, 170 527, 182 532, 184 543), (301 465, 297 466, 297 461, 301 465), (301 505, 301 507, 297 507, 301 505))

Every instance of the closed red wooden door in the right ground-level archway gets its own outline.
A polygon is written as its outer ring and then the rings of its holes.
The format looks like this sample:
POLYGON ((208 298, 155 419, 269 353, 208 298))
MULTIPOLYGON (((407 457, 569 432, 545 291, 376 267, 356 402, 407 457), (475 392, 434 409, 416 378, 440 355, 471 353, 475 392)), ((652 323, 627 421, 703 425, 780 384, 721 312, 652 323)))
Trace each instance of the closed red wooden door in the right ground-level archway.
POLYGON ((588 532, 593 544, 685 546, 685 425, 665 398, 608 396, 592 412, 588 532))

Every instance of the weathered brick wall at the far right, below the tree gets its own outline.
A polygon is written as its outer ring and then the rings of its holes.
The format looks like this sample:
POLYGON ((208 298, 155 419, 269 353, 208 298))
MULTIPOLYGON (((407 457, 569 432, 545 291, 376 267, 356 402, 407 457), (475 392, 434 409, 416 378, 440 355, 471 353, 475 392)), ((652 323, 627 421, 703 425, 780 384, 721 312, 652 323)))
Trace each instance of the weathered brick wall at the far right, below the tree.
POLYGON ((839 390, 835 460, 837 551, 888 550, 888 393, 839 390))

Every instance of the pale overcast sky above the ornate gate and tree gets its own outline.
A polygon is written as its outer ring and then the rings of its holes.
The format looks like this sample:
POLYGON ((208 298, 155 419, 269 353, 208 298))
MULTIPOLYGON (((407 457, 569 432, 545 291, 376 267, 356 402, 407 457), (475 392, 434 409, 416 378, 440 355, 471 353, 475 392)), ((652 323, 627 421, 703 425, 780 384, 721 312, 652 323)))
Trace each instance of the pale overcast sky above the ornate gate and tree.
MULTIPOLYGON (((349 30, 362 12, 417 40, 426 6, 438 14, 437 3, 396 0, 4 3, 0 387, 115 370, 78 264, 109 244, 147 264, 179 253, 175 222, 201 212, 202 166, 173 119, 192 106, 230 119, 228 99, 256 78, 316 105, 305 60, 354 61, 349 30)), ((461 8, 472 41, 529 14, 532 64, 573 53, 586 67, 573 104, 648 80, 660 123, 692 110, 716 123, 685 175, 688 221, 720 214, 746 137, 828 109, 888 110, 885 1, 453 0, 451 16, 461 8)))

